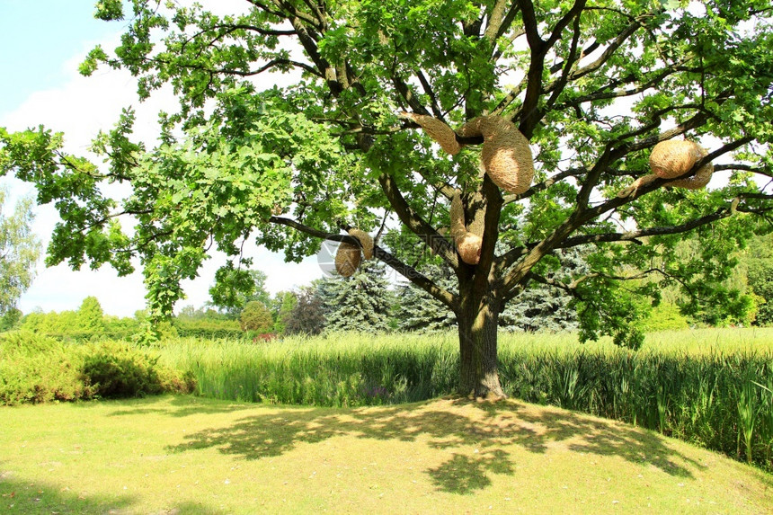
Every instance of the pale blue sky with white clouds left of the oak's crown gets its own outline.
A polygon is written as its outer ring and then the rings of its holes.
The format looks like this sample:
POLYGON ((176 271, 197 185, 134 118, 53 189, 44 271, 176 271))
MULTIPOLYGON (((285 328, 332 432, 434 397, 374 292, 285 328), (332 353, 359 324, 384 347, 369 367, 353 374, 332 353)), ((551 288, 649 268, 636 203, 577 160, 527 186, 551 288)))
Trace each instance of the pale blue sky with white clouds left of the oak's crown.
MULTIPOLYGON (((23 130, 42 124, 64 132, 67 152, 87 155, 97 132, 111 129, 121 108, 132 106, 138 116, 135 133, 152 146, 157 112, 175 105, 171 93, 160 92, 140 103, 136 83, 123 71, 100 68, 91 77, 77 73, 78 64, 96 44, 114 49, 125 26, 126 22, 95 20, 93 0, 0 0, 0 127, 23 130)), ((6 215, 15 200, 34 196, 31 184, 13 178, 0 177, 0 185, 10 193, 6 215)), ((35 214, 33 230, 45 249, 58 215, 51 206, 39 206, 35 214)), ((271 294, 323 276, 315 256, 286 263, 282 255, 254 246, 247 255, 253 257, 253 268, 267 274, 271 294)), ((224 256, 215 255, 199 278, 183 282, 187 298, 176 309, 203 306, 215 271, 224 262, 224 256)), ((66 264, 46 268, 41 256, 36 279, 18 306, 23 313, 37 308, 60 312, 77 309, 85 297, 94 296, 106 314, 132 316, 145 307, 145 295, 139 272, 119 278, 109 266, 98 271, 71 271, 66 264)))

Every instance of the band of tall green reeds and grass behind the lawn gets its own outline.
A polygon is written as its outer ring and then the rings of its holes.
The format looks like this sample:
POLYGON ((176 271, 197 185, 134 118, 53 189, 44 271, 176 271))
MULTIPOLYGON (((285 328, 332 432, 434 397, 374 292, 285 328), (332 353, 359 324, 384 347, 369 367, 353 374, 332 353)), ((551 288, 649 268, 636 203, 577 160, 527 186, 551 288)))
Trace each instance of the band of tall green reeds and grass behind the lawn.
MULTIPOLYGON (((5 404, 104 398, 111 392, 101 382, 120 376, 111 385, 123 395, 192 388, 224 401, 352 408, 452 395, 458 377, 456 333, 173 339, 149 348, 104 342, 87 351, 50 341, 30 351, 23 338, 4 341, 5 404), (96 352, 99 345, 108 348, 96 352), (80 361, 68 361, 76 351, 80 361), (27 384, 15 397, 14 371, 27 384), (41 384, 30 383, 43 374, 41 384), (84 384, 61 386, 66 377, 84 384)), ((500 362, 511 398, 627 422, 773 470, 773 329, 651 333, 640 351, 606 340, 581 344, 573 334, 502 333, 500 362)))

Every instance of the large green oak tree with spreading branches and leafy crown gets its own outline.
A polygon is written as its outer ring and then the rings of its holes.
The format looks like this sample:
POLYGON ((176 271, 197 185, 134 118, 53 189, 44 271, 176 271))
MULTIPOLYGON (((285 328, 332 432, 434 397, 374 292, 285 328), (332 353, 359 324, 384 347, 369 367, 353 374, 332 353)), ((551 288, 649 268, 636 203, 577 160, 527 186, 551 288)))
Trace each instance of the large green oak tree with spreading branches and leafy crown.
POLYGON ((768 0, 245 0, 231 15, 130 4, 97 4, 126 32, 82 71, 127 69, 141 98, 171 84, 180 107, 162 117, 162 144, 133 143, 126 111, 94 143, 103 169, 65 155, 44 129, 0 133, 0 164, 57 203, 49 263, 128 273, 138 257, 156 315, 171 312, 213 246, 234 258, 218 281, 238 288, 250 282, 248 239, 295 260, 324 239, 357 244, 352 226, 386 226, 376 258, 457 316, 459 391, 502 395, 497 317, 530 283, 572 294, 582 338, 635 346, 638 295, 680 284, 695 302, 715 298, 733 250, 768 228, 771 195, 755 181, 773 178, 768 0), (293 85, 256 86, 270 72, 293 85), (448 123, 464 149, 445 154, 403 111, 448 123), (480 115, 529 139, 529 190, 508 194, 479 172, 483 139, 459 128, 480 115), (618 195, 671 138, 707 148, 684 176, 712 162, 709 187, 658 179, 618 195), (104 182, 131 192, 111 200, 104 182), (483 234, 475 265, 439 232, 455 192, 483 234), (701 252, 676 261, 689 231, 701 252), (591 271, 551 280, 555 251, 580 245, 591 271), (426 262, 449 267, 458 288, 422 275, 426 262))

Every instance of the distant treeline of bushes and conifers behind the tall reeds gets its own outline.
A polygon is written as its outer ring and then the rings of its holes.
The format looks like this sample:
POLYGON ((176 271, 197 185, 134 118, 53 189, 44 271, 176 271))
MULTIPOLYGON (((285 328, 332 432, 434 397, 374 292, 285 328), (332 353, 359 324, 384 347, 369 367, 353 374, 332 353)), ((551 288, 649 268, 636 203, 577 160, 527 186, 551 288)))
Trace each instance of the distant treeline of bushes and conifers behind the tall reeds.
MULTIPOLYGON (((693 252, 697 250, 689 240, 680 246, 680 253, 693 252)), ((500 315, 502 330, 556 333, 577 329, 574 298, 555 284, 582 276, 587 269, 582 249, 557 253, 555 259, 560 266, 546 274, 554 284, 534 283, 511 302, 500 315)), ((737 259, 731 277, 721 288, 713 289, 721 298, 701 302, 699 291, 690 295, 665 286, 659 292, 660 302, 640 299, 636 306, 642 331, 773 324, 773 240, 770 236, 752 240, 737 259)), ((449 271, 440 266, 426 267, 422 272, 445 288, 454 284, 449 271)), ((13 310, 4 316, 0 331, 15 328, 60 339, 143 341, 158 335, 254 339, 261 334, 339 331, 433 333, 456 326, 454 315, 422 289, 390 281, 384 265, 368 263, 350 278, 326 277, 273 297, 264 287, 266 275, 250 273, 255 282, 253 295, 226 301, 225 294, 213 291, 209 306, 184 306, 170 323, 155 327, 152 334, 144 311, 133 317, 105 315, 94 297, 85 298, 75 311, 22 315, 13 310)))

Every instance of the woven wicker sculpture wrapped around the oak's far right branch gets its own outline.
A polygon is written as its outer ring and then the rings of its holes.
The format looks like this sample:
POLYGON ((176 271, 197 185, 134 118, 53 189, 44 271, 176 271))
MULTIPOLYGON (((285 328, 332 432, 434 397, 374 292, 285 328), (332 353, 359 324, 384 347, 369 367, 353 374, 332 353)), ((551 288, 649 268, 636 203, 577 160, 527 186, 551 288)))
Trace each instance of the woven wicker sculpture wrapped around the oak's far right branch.
MULTIPOLYGON (((653 170, 653 173, 636 179, 633 184, 621 190, 618 193, 618 197, 627 197, 655 179, 676 179, 688 173, 706 155, 708 155, 706 148, 688 139, 666 139, 661 141, 655 145, 652 154, 650 154, 650 168, 653 170)), ((669 181, 666 185, 672 188, 699 190, 706 187, 706 184, 711 181, 712 173, 714 173, 714 164, 706 163, 687 179, 669 181)))

